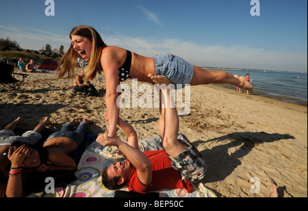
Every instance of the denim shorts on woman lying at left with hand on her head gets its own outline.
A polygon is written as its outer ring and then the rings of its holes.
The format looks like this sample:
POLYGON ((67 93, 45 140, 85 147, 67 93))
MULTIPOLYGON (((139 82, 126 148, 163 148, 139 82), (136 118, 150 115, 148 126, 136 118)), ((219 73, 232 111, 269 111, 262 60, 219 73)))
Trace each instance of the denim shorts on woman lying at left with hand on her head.
POLYGON ((72 139, 73 141, 75 141, 78 148, 84 141, 88 124, 86 124, 86 122, 81 122, 76 131, 72 131, 73 128, 74 128, 73 123, 71 122, 66 123, 59 132, 53 132, 53 134, 51 134, 44 143, 46 143, 49 139, 66 137, 68 139, 72 139))

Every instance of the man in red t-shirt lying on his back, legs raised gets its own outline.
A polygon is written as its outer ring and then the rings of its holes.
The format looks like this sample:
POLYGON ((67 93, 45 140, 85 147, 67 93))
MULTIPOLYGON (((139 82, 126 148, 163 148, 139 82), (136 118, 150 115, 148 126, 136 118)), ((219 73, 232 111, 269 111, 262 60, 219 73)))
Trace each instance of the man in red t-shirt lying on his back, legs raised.
MULTIPOLYGON (((171 82, 165 76, 153 76, 161 86, 162 104, 159 108, 158 130, 164 150, 141 152, 138 148, 136 131, 118 118, 118 125, 128 138, 128 143, 108 133, 97 137, 101 145, 112 145, 127 156, 126 162, 114 163, 103 169, 102 180, 106 188, 116 190, 127 185, 129 191, 147 193, 162 188, 185 188, 188 193, 205 176, 205 161, 200 152, 188 139, 179 134, 179 117, 170 89, 171 82), (192 184, 191 184, 192 183, 192 184)), ((107 115, 105 115, 108 118, 107 115)), ((106 119, 107 120, 107 119, 106 119)))

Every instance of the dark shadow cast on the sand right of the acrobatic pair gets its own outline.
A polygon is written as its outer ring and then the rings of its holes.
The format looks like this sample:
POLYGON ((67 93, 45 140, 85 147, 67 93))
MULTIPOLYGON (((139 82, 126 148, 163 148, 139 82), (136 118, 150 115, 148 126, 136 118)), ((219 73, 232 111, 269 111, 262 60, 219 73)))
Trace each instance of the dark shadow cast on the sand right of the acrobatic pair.
POLYGON ((194 141, 193 144, 197 147, 199 144, 211 143, 211 141, 218 142, 230 140, 228 143, 216 145, 211 149, 206 149, 201 152, 207 163, 207 174, 205 175, 203 182, 218 182, 224 180, 236 167, 242 164, 240 158, 243 158, 251 152, 256 145, 280 141, 283 139, 295 139, 295 137, 279 133, 233 132, 229 135, 209 139, 207 141, 194 141), (230 148, 238 146, 240 146, 238 150, 232 154, 228 153, 230 148))

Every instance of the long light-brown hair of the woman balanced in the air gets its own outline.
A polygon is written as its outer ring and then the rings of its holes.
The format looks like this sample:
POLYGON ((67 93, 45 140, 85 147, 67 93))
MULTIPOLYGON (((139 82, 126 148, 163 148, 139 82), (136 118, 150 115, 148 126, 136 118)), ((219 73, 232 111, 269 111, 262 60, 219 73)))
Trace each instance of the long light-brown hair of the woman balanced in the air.
MULTIPOLYGON (((72 31, 70 31, 70 40, 73 35, 88 38, 88 40, 92 42, 90 61, 85 71, 85 81, 90 81, 97 76, 97 73, 101 74, 103 71, 101 67, 101 52, 107 45, 103 42, 99 33, 89 26, 81 25, 79 27, 74 27, 72 31)), ((70 45, 70 48, 68 48, 68 51, 63 55, 57 66, 57 73, 60 72, 58 75, 59 79, 65 74, 67 74, 68 79, 75 76, 75 61, 78 57, 78 53, 74 50, 73 46, 70 45)))

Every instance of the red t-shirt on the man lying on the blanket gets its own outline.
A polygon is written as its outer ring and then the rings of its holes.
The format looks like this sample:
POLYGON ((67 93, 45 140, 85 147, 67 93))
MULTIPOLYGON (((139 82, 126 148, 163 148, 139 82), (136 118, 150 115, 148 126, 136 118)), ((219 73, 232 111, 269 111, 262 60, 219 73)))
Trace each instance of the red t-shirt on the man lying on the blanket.
POLYGON ((162 188, 185 188, 188 193, 194 191, 190 182, 181 180, 181 173, 171 167, 171 160, 164 150, 147 151, 144 154, 152 163, 152 184, 150 186, 144 186, 138 179, 137 169, 133 167, 133 171, 126 183, 129 191, 146 193, 162 188))

